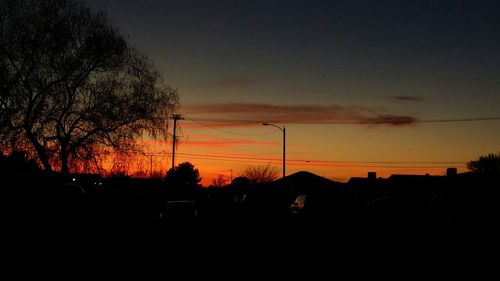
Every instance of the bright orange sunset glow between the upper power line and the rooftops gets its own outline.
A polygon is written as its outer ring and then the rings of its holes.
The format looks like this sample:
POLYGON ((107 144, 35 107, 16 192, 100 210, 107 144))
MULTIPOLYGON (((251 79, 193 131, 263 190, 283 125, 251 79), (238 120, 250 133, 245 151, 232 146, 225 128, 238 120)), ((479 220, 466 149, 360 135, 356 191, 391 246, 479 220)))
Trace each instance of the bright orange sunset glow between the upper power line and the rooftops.
MULTIPOLYGON (((453 135, 438 138, 446 146, 435 142, 432 127, 329 128, 287 125, 287 175, 308 171, 338 182, 347 182, 351 177, 367 177, 368 172, 376 172, 377 177, 382 178, 393 174, 444 175, 450 167, 457 168, 458 172, 467 171, 466 161, 456 159, 474 159, 467 154, 453 153, 459 151, 453 147, 453 135), (420 139, 415 137, 415 130, 422 131, 418 135, 420 139)), ((175 163, 192 163, 200 172, 203 186, 211 185, 221 175, 229 183, 231 177, 234 179, 245 168, 255 165, 270 164, 281 176, 281 132, 264 126, 241 131, 183 127, 182 132, 175 163), (233 135, 229 136, 228 132, 233 135)), ((163 178, 171 168, 171 141, 144 138, 139 145, 144 153, 129 159, 124 166, 127 172, 132 176, 153 174, 163 178)), ((105 169, 111 171, 113 159, 104 162, 105 169)))

